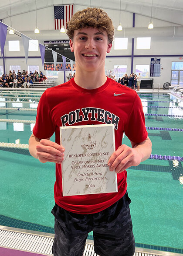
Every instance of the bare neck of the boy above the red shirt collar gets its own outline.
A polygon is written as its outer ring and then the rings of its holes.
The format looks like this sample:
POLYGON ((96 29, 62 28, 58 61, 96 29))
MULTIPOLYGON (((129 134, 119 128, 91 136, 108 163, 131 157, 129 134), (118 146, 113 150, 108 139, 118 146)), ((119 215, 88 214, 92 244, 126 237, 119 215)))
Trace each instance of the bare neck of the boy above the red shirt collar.
POLYGON ((107 77, 105 76, 105 71, 100 70, 100 73, 98 73, 98 70, 94 72, 86 72, 79 70, 76 70, 75 75, 75 83, 78 84, 80 87, 91 90, 101 87, 103 84, 105 84, 107 80, 107 77))

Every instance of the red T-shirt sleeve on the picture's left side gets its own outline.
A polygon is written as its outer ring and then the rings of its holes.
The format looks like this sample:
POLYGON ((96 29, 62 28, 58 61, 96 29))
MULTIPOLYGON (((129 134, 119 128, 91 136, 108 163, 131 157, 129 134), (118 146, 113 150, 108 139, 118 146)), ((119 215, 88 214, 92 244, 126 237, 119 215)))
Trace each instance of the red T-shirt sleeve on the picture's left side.
POLYGON ((47 102, 46 91, 41 95, 37 106, 36 123, 33 128, 33 134, 39 139, 47 139, 55 131, 54 123, 51 118, 50 108, 47 102))

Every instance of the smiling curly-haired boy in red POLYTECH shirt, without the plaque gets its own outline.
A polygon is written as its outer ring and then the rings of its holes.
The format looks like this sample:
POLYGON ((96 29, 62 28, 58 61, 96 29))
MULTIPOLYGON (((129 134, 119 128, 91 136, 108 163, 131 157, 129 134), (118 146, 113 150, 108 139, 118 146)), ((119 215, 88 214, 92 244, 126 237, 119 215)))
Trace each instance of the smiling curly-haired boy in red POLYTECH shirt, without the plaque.
POLYGON ((126 168, 149 158, 142 104, 136 91, 105 76, 105 56, 114 37, 112 20, 101 9, 76 12, 68 23, 76 75, 67 83, 48 88, 41 96, 29 151, 41 162, 56 163, 54 185, 54 256, 82 256, 93 231, 95 252, 100 256, 132 256, 135 242, 126 192, 126 168), (118 177, 117 193, 62 195, 59 126, 106 124, 115 127, 116 151, 108 160, 109 172, 118 177), (136 132, 138 130, 138 133, 136 132), (49 138, 55 132, 55 143, 49 138), (132 148, 122 144, 123 132, 132 148))

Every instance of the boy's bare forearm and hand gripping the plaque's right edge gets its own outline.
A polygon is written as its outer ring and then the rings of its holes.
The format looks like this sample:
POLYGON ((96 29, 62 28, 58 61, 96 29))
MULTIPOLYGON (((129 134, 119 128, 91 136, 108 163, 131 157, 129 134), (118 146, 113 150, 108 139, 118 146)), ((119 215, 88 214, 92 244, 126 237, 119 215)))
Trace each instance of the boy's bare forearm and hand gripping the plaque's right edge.
POLYGON ((130 166, 137 166, 142 161, 149 158, 151 154, 152 143, 149 137, 140 143, 131 141, 132 147, 122 144, 109 158, 108 166, 110 171, 120 173, 130 166))

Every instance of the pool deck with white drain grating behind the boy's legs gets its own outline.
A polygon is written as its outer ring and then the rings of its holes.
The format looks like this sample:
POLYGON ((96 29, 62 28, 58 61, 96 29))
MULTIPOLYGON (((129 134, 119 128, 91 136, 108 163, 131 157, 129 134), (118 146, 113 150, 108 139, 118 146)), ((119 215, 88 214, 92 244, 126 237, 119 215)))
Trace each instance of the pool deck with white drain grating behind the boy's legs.
MULTIPOLYGON (((0 226, 0 255, 2 256, 51 256, 54 234, 0 226)), ((93 240, 87 240, 84 256, 98 256, 93 240)), ((136 247, 134 256, 182 256, 174 252, 136 247)))

